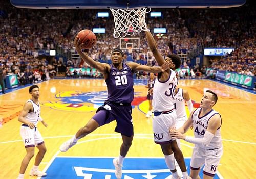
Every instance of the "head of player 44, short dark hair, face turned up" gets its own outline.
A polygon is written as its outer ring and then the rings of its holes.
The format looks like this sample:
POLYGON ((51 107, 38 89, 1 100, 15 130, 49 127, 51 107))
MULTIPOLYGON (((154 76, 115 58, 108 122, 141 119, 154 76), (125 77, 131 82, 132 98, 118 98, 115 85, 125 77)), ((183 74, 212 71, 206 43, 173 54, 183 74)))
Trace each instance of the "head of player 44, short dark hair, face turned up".
POLYGON ((200 107, 204 108, 212 108, 218 100, 218 96, 215 92, 211 90, 206 90, 202 99, 200 107))

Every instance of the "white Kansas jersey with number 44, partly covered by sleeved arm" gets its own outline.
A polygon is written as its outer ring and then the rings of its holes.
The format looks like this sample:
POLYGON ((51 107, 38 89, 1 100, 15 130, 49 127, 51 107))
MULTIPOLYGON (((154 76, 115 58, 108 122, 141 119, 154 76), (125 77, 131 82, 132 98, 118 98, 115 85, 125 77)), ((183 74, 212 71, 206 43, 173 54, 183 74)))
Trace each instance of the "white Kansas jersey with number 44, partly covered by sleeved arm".
MULTIPOLYGON (((201 113, 201 110, 202 110, 201 108, 197 108, 192 115, 194 135, 196 138, 204 137, 204 133, 208 128, 208 122, 210 118, 215 114, 219 114, 217 111, 212 109, 208 114, 199 118, 199 114, 201 113)), ((200 147, 204 149, 216 149, 216 148, 220 148, 221 146, 222 146, 221 127, 219 127, 214 135, 214 138, 212 138, 212 140, 210 141, 210 144, 207 147, 202 147, 202 146, 200 147)))

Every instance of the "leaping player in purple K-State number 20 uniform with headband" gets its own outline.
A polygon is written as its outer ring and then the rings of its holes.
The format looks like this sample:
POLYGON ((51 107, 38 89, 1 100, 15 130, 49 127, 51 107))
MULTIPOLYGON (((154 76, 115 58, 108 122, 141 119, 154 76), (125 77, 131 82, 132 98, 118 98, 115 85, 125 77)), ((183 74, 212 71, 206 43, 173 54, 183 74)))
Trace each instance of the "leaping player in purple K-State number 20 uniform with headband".
POLYGON ((115 132, 121 133, 122 144, 120 147, 120 155, 113 160, 116 169, 116 177, 122 177, 122 163, 132 145, 133 140, 133 121, 131 102, 134 98, 133 89, 133 73, 135 71, 145 71, 160 73, 168 69, 172 61, 162 63, 162 67, 149 67, 139 65, 138 63, 122 63, 123 52, 119 48, 115 48, 111 53, 112 64, 100 63, 94 61, 87 53, 82 52, 82 45, 78 36, 75 37, 75 47, 81 58, 91 67, 96 68, 104 76, 107 88, 108 98, 103 106, 99 107, 96 114, 81 127, 74 137, 60 146, 60 151, 65 152, 74 146, 79 139, 90 134, 98 127, 108 124, 116 120, 117 125, 115 132))

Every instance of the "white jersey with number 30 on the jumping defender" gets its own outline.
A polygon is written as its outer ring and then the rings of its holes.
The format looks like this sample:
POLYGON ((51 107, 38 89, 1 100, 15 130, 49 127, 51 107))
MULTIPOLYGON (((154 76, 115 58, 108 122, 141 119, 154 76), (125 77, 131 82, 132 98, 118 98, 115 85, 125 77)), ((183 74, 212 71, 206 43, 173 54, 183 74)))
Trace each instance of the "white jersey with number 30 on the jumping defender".
POLYGON ((169 78, 165 82, 159 82, 159 79, 156 79, 152 99, 154 111, 161 112, 174 109, 173 96, 177 84, 178 79, 173 70, 170 70, 169 78))

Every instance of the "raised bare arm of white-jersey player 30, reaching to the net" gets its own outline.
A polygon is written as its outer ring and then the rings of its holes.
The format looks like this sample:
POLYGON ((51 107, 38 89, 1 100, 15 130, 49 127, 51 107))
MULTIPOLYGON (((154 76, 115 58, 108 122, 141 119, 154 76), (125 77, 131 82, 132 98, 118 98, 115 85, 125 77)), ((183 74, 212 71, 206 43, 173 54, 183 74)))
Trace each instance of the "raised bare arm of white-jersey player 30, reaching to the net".
POLYGON ((154 39, 154 37, 150 31, 145 31, 145 32, 146 32, 146 38, 148 40, 148 46, 150 46, 150 49, 151 49, 157 63, 159 64, 159 66, 162 66, 162 64, 164 64, 165 61, 158 50, 157 42, 154 39))

